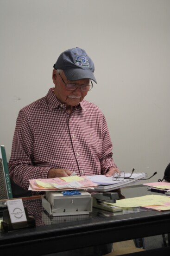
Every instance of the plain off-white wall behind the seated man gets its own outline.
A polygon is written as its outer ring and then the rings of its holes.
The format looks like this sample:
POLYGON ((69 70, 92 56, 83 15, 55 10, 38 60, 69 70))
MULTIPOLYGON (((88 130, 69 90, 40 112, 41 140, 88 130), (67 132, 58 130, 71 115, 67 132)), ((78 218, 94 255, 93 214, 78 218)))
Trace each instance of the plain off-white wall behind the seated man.
POLYGON ((43 97, 60 53, 86 50, 123 171, 162 178, 170 162, 170 0, 0 0, 0 144, 10 158, 19 110, 43 97))

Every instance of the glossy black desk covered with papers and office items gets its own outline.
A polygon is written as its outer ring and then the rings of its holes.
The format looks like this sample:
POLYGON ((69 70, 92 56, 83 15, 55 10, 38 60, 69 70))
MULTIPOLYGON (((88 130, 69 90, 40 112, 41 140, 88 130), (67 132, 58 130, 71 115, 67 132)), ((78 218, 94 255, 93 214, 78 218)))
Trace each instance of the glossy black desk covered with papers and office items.
MULTIPOLYGON (((135 195, 138 186, 129 189, 132 189, 135 195)), ((143 195, 145 193, 147 188, 143 186, 143 195)), ((88 216, 51 218, 42 211, 40 199, 25 200, 25 204, 29 214, 34 214, 37 226, 8 233, 0 232, 1 255, 23 255, 24 252, 24 255, 38 256, 170 233, 170 211, 145 210, 138 207, 112 213, 94 208, 88 216)), ((147 256, 152 253, 154 256, 160 256, 160 253, 169 256, 170 247, 155 249, 152 252, 146 250, 133 255, 147 256)))

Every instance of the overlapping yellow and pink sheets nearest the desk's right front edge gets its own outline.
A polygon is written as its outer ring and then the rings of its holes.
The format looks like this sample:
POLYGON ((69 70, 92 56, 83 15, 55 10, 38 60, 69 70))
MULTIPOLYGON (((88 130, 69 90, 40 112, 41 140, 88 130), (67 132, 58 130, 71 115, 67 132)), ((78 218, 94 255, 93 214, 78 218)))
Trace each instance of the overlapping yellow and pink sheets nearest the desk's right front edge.
POLYGON ((145 207, 154 210, 170 210, 170 197, 160 195, 147 195, 143 197, 132 197, 117 200, 113 205, 129 207, 145 207))

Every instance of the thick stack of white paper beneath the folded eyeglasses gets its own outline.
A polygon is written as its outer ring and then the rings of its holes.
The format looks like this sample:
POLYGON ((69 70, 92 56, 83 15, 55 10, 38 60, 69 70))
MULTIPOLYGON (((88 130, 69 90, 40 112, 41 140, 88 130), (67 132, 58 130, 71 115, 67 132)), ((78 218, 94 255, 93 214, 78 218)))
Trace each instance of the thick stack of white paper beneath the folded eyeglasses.
POLYGON ((123 181, 119 180, 113 180, 112 177, 106 177, 105 175, 91 175, 87 176, 89 180, 91 180, 93 183, 97 184, 97 187, 94 188, 94 190, 98 191, 110 191, 113 189, 118 189, 122 187, 126 187, 129 184, 136 183, 139 181, 140 178, 145 178, 145 173, 133 173, 131 178, 126 179, 126 177, 129 177, 131 173, 125 173, 125 179, 123 181))

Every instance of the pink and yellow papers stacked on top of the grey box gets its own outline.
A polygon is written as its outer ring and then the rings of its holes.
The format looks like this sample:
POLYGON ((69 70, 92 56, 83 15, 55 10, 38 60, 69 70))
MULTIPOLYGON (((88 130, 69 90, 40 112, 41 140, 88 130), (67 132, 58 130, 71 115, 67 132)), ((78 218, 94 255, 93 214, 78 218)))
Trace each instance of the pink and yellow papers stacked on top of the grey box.
POLYGON ((48 190, 75 190, 75 189, 93 189, 96 184, 87 177, 67 176, 52 179, 31 179, 29 180, 29 190, 48 191, 48 190))

